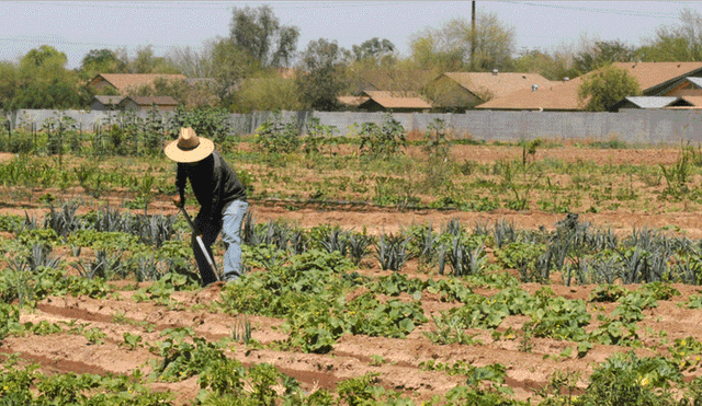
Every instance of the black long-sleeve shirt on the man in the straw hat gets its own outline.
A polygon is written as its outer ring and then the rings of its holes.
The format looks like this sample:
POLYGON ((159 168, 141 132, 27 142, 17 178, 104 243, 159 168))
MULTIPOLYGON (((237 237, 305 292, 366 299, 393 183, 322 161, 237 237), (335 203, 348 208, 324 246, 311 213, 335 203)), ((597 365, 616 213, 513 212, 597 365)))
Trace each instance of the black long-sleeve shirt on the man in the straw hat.
POLYGON ((212 220, 220 220, 222 211, 228 202, 246 201, 244 185, 217 151, 196 163, 178 163, 176 186, 182 201, 185 201, 188 179, 201 206, 199 213, 201 218, 204 216, 212 220))

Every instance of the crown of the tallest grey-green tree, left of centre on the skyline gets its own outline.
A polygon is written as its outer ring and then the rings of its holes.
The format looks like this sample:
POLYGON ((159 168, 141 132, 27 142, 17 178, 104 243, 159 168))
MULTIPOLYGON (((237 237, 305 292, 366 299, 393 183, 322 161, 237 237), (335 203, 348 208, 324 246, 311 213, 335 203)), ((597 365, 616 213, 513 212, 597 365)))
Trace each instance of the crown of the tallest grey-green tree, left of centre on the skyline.
POLYGON ((280 25, 270 5, 235 8, 229 38, 260 67, 286 67, 297 47, 299 30, 280 25))

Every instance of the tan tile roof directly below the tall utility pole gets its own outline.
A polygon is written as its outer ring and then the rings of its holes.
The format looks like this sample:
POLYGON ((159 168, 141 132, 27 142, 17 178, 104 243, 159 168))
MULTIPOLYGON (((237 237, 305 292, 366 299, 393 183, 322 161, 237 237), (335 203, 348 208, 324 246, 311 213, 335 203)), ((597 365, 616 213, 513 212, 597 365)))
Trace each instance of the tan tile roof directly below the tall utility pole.
POLYGON ((533 84, 543 89, 554 83, 539 73, 446 72, 444 76, 473 94, 489 92, 494 97, 506 96, 523 89, 531 90, 533 84))

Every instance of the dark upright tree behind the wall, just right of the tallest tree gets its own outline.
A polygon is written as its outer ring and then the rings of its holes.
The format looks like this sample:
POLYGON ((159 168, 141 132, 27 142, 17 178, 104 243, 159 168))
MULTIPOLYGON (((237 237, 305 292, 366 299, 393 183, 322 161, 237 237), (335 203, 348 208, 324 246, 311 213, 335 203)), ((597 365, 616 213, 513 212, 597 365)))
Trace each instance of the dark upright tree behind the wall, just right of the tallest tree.
POLYGON ((336 40, 309 42, 302 55, 302 73, 296 79, 304 106, 322 112, 339 108, 337 96, 346 86, 343 55, 336 40))

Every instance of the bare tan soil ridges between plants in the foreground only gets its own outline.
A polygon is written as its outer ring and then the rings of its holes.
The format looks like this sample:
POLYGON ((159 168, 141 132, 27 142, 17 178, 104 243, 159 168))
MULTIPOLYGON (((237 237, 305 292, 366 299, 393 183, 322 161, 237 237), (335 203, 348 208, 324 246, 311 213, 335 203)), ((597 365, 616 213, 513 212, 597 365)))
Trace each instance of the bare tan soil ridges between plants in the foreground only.
MULTIPOLYGON (((237 315, 203 309, 204 304, 217 300, 222 288, 222 285, 214 285, 199 291, 177 292, 171 299, 180 303, 174 306, 178 310, 169 310, 152 302, 137 303, 131 299, 135 292, 131 290, 120 291, 115 298, 101 300, 82 297, 48 298, 37 305, 36 311, 23 314, 21 322, 56 323, 64 326, 64 333, 10 336, 3 340, 0 351, 19 352, 23 358, 38 362, 45 372, 129 374, 139 369, 148 373, 151 371, 150 362, 159 359, 148 350, 148 345, 162 341, 160 333, 166 328, 191 327, 197 336, 212 341, 231 336, 237 315), (71 326, 80 325, 84 325, 86 329, 97 327, 106 338, 102 344, 93 344, 83 335, 70 333, 71 326), (125 333, 140 335, 146 346, 135 349, 122 346, 125 333)), ((535 285, 524 286, 532 293, 537 288, 535 285)), ((556 294, 568 299, 585 299, 591 288, 553 287, 556 294)), ((646 311, 646 322, 642 324, 642 328, 645 325, 653 332, 666 332, 669 343, 675 338, 699 337, 702 333, 702 315, 698 311, 677 305, 686 295, 697 292, 697 289, 684 286, 676 288, 682 290, 683 297, 661 301, 657 309, 646 311)), ((422 308, 428 316, 452 305, 456 304, 440 302, 431 295, 422 298, 422 308)), ((614 305, 610 305, 609 311, 613 308, 614 305)), ((624 347, 596 345, 584 358, 577 358, 576 351, 571 356, 562 357, 566 347, 575 347, 576 344, 532 338, 526 350, 518 336, 496 341, 491 332, 479 329, 468 333, 482 345, 437 345, 423 334, 435 329, 430 322, 417 328, 406 339, 349 335, 338 341, 331 353, 313 355, 269 348, 271 344, 285 339, 285 334, 280 329, 281 320, 261 316, 248 316, 248 320, 251 323, 251 336, 261 346, 251 349, 244 344, 234 344, 226 352, 245 366, 261 362, 274 364, 283 373, 297 379, 308 391, 320 387, 333 391, 342 380, 374 372, 380 374, 378 383, 386 388, 405 392, 416 399, 443 396, 466 380, 461 375, 421 370, 419 364, 422 361, 434 360, 446 364, 463 361, 474 367, 501 363, 507 368, 506 384, 514 391, 516 398, 525 401, 536 399, 535 391, 546 385, 555 371, 578 371, 585 379, 598 363, 614 352, 627 350, 624 347)), ((498 330, 505 332, 511 327, 519 332, 528 320, 524 316, 508 317, 498 330)), ((639 333, 646 336, 643 332, 639 333)), ((644 343, 647 347, 665 348, 660 346, 660 338, 655 335, 645 338, 644 343)), ((639 357, 655 355, 650 349, 636 351, 639 357)), ((585 384, 585 380, 580 382, 581 387, 585 384)), ((196 379, 191 378, 178 383, 158 383, 154 385, 154 390, 169 391, 177 395, 179 404, 188 404, 196 395, 199 385, 196 379)))

